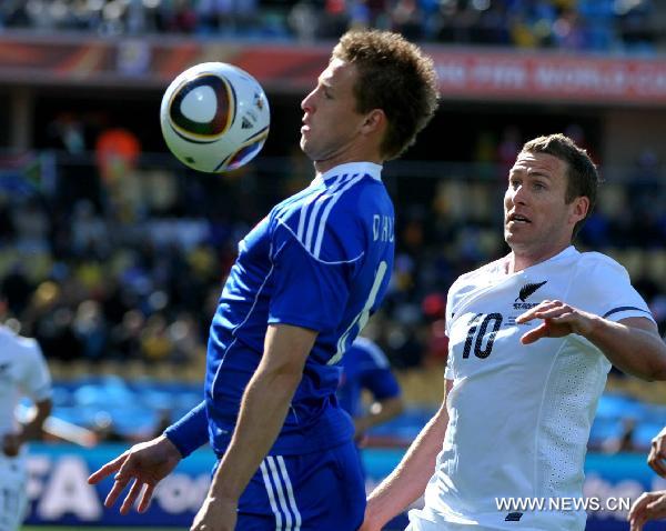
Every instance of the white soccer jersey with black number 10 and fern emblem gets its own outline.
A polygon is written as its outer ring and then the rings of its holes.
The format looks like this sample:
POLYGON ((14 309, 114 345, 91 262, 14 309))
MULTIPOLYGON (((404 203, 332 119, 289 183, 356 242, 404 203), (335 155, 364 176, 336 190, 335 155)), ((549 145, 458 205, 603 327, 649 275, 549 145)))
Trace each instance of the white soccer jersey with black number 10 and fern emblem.
POLYGON ((610 363, 577 334, 521 344, 542 321, 516 324, 516 317, 555 299, 614 321, 653 319, 622 266, 574 247, 516 273, 505 272, 503 259, 458 278, 446 309, 450 421, 425 509, 412 511, 410 529, 585 528, 584 511, 508 517, 514 511, 496 504, 502 497, 582 497, 587 440, 610 363))

